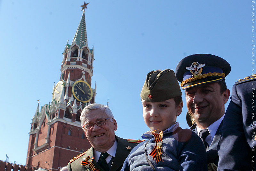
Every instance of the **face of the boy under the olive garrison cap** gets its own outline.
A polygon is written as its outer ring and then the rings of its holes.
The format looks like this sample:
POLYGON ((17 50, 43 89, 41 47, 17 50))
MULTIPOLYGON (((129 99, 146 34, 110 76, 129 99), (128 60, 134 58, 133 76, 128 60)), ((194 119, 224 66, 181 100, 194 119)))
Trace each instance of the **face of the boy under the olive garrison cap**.
POLYGON ((143 99, 141 101, 144 121, 152 131, 156 129, 164 131, 175 124, 176 117, 180 115, 183 107, 183 102, 175 107, 173 98, 155 103, 143 99))

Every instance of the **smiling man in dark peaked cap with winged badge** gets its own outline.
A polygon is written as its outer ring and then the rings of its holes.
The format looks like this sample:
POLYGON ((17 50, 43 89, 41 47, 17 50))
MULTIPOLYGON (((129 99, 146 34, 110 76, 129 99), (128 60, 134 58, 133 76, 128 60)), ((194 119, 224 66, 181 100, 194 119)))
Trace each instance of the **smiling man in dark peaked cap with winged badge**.
POLYGON ((194 54, 183 58, 176 67, 176 77, 185 90, 188 112, 196 122, 195 132, 204 143, 209 165, 218 166, 219 129, 225 115, 230 91, 225 77, 229 63, 215 55, 194 54))

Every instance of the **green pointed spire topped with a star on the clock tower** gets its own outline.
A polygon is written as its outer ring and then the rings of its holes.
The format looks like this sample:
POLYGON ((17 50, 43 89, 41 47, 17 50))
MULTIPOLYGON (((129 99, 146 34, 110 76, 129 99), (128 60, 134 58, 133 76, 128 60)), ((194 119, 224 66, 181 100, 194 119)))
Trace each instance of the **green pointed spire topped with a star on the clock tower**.
POLYGON ((84 16, 85 12, 84 11, 85 11, 85 8, 87 9, 88 4, 89 3, 86 4, 84 1, 84 4, 81 5, 82 10, 83 10, 83 15, 82 15, 80 23, 77 27, 76 34, 75 34, 73 42, 72 42, 72 44, 76 43, 80 47, 87 44, 87 33, 86 33, 85 16, 84 16))

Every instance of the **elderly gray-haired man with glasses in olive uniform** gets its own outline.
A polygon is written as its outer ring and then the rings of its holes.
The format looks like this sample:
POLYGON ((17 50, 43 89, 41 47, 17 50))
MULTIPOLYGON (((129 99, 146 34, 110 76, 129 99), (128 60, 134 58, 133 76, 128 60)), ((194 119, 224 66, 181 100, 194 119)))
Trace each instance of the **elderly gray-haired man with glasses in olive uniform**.
POLYGON ((90 149, 68 163, 69 171, 119 171, 133 147, 141 141, 115 136, 117 123, 108 106, 91 104, 80 116, 90 149))

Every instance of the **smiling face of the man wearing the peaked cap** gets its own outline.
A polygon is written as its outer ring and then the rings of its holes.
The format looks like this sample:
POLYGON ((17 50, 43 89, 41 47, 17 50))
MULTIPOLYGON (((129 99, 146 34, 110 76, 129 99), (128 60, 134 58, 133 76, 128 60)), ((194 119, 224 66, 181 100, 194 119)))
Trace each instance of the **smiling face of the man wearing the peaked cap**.
POLYGON ((225 113, 230 91, 227 89, 221 95, 219 83, 214 82, 185 89, 185 95, 188 111, 197 126, 207 128, 225 113))

